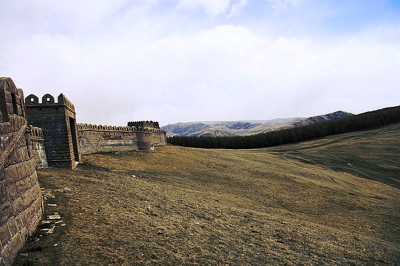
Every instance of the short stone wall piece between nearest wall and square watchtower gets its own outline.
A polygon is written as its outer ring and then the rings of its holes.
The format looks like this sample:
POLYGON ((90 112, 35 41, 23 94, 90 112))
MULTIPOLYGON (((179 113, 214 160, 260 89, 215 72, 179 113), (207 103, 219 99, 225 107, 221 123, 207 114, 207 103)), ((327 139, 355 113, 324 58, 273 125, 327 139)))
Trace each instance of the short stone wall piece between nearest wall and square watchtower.
POLYGON ((47 168, 46 152, 44 150, 44 139, 41 128, 28 126, 30 138, 30 153, 34 160, 36 169, 47 168))

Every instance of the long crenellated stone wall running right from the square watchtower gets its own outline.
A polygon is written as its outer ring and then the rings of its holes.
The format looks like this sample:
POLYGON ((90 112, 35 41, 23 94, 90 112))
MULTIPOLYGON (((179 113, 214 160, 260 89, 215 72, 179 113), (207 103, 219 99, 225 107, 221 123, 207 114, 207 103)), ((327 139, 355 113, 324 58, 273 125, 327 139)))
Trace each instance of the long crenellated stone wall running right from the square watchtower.
POLYGON ((82 154, 106 151, 147 151, 165 145, 162 129, 77 124, 82 154))

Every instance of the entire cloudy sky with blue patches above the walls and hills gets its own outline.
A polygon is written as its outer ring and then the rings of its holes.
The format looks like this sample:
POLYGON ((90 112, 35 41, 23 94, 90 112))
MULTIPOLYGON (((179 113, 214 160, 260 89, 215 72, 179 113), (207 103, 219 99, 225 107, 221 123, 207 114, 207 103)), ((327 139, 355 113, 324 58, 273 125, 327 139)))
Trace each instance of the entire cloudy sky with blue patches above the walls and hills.
POLYGON ((0 0, 0 76, 77 122, 161 125, 400 104, 398 0, 0 0))

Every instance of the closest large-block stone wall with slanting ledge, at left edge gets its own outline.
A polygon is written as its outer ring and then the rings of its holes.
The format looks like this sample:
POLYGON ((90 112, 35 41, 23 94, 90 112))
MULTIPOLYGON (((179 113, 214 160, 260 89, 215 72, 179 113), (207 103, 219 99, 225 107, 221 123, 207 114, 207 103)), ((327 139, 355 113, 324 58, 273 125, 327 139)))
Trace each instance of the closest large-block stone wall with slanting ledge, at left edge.
POLYGON ((0 78, 0 265, 12 264, 42 214, 23 92, 0 78))

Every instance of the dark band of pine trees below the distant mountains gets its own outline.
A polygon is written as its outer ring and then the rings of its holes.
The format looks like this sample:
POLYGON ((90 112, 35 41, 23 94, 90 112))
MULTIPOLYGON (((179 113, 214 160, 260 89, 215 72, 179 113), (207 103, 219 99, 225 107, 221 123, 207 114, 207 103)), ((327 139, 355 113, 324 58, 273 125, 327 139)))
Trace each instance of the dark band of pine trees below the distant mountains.
POLYGON ((304 141, 352 131, 379 128, 400 122, 400 106, 387 107, 349 117, 323 121, 248 136, 186 137, 172 136, 167 142, 172 145, 208 149, 255 149, 304 141))

